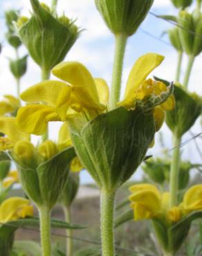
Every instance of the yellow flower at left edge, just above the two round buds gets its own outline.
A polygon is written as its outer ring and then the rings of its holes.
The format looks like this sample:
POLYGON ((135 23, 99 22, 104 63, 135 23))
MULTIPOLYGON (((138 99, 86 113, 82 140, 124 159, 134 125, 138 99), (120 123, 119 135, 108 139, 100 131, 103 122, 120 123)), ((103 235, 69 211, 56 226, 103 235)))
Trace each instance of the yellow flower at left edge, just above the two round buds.
POLYGON ((19 130, 15 118, 0 117, 0 132, 5 137, 0 137, 0 151, 12 149, 19 140, 30 140, 30 136, 19 130))

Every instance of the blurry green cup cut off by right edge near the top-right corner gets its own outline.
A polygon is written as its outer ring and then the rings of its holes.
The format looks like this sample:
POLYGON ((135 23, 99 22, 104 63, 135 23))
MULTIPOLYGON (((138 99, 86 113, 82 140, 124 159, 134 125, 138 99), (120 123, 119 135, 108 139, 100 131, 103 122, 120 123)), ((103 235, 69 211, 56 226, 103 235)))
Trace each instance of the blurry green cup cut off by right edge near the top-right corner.
POLYGON ((202 51, 202 14, 199 10, 194 10, 192 14, 181 11, 178 17, 181 44, 187 55, 199 55, 202 51))

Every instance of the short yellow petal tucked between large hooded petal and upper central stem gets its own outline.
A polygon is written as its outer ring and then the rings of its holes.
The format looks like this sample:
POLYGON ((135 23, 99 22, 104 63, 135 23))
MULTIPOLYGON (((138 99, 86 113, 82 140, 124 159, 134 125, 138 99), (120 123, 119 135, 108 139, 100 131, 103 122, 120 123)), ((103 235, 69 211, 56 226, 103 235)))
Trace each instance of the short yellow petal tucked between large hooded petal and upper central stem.
POLYGON ((94 80, 98 91, 100 103, 107 106, 109 102, 109 86, 107 85, 107 82, 102 78, 94 78, 94 80))

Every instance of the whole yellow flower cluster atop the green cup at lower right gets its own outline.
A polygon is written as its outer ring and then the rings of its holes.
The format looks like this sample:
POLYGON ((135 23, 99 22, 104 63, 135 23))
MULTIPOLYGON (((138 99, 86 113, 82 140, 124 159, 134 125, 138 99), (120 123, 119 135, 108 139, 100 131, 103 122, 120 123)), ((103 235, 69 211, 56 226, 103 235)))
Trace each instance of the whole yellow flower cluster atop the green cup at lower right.
POLYGON ((177 222, 183 216, 196 210, 202 210, 202 185, 192 186, 183 196, 183 202, 169 208, 169 192, 160 193, 151 184, 143 183, 129 188, 131 207, 134 208, 134 219, 163 218, 169 223, 177 222))

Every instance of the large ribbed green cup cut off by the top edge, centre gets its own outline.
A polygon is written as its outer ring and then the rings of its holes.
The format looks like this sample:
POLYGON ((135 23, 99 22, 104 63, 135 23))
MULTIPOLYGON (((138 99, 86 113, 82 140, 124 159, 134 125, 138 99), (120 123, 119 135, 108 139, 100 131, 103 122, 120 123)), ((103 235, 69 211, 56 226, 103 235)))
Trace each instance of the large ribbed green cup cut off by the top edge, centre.
POLYGON ((145 19, 154 0, 95 0, 113 34, 133 35, 145 19))

